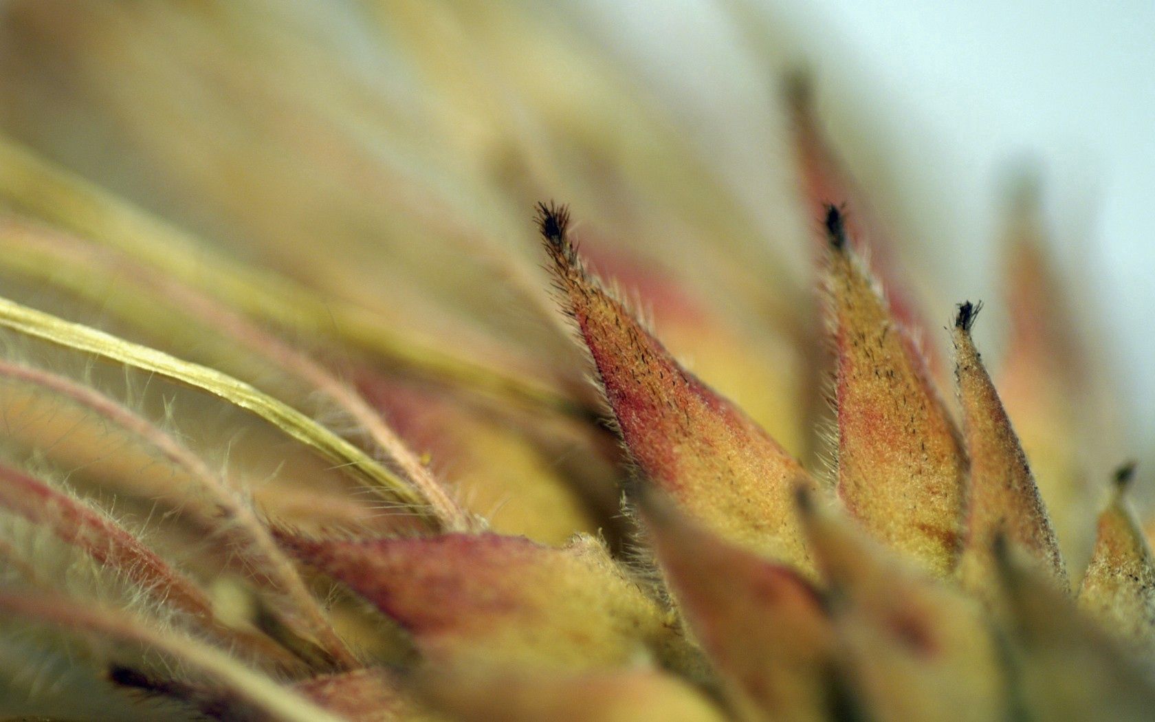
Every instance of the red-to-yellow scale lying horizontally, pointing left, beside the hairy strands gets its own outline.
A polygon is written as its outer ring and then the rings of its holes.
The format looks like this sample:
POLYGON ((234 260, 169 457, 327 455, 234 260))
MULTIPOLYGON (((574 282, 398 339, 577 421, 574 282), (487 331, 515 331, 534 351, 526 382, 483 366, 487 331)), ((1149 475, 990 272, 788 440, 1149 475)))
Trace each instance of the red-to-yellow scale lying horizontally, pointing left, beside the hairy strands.
POLYGON ((681 641, 589 537, 561 549, 494 534, 282 538, 401 624, 434 662, 596 669, 663 656, 681 641))

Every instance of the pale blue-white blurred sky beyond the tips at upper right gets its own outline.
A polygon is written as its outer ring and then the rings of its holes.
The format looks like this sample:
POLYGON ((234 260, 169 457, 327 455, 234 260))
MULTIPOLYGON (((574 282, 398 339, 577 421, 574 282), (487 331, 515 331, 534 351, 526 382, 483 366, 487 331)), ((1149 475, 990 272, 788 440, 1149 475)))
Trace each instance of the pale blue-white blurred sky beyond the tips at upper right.
POLYGON ((1006 184, 1037 174, 1058 262, 1090 285, 1089 318, 1111 338, 1101 350, 1137 392, 1142 438, 1155 431, 1155 5, 752 0, 738 23, 725 10, 740 0, 581 5, 755 183, 776 171, 745 151, 773 124, 774 88, 744 40, 768 32, 783 61, 815 70, 844 157, 878 180, 948 295, 991 296, 1006 184))

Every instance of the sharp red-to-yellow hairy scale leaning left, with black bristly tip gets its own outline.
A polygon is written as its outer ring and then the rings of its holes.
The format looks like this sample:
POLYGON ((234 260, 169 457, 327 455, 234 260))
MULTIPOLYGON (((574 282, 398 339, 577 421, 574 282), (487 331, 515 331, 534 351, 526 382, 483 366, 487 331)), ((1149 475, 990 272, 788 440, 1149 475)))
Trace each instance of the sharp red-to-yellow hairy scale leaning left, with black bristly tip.
MULTIPOLYGON (((562 228, 545 209, 543 228, 562 228)), ((790 503, 802 466, 740 409, 683 369, 588 275, 562 235, 546 239, 560 300, 589 349, 618 430, 644 483, 726 538, 810 568, 790 503)))

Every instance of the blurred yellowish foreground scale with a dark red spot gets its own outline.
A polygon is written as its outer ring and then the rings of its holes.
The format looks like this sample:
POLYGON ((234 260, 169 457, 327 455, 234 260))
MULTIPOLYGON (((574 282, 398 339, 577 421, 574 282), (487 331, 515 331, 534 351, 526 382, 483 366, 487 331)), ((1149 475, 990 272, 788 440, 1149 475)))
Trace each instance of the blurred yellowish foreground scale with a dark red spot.
POLYGON ((810 494, 799 504, 855 704, 894 722, 1003 717, 1007 682, 982 605, 810 494))

